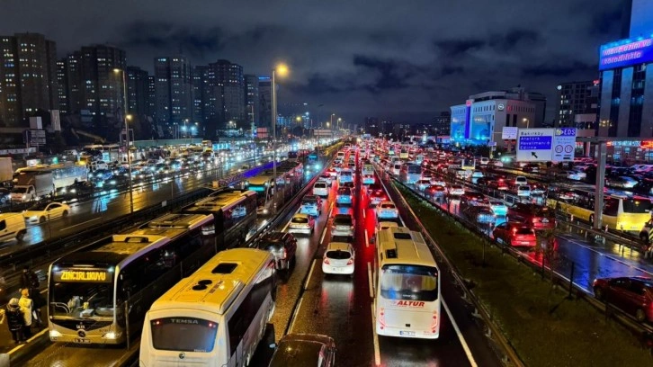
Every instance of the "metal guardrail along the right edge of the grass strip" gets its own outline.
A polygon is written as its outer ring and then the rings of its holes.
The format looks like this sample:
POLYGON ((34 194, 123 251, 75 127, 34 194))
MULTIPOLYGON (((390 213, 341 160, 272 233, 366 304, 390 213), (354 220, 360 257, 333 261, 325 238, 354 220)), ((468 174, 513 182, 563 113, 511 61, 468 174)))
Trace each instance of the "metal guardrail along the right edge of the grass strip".
MULTIPOLYGON (((649 347, 653 346, 653 326, 650 326, 648 324, 642 324, 637 322, 637 320, 634 319, 631 315, 623 312, 621 309, 616 309, 612 304, 609 302, 601 302, 599 300, 595 300, 595 298, 592 296, 592 294, 584 289, 583 287, 579 286, 577 283, 573 282, 573 273, 574 273, 574 266, 572 264, 571 267, 571 273, 569 276, 559 273, 555 270, 552 270, 550 268, 550 264, 546 264, 544 258, 542 257, 541 264, 537 263, 532 263, 527 260, 527 257, 520 251, 515 250, 514 248, 504 246, 502 244, 499 244, 496 242, 494 238, 491 238, 486 234, 485 232, 481 231, 477 225, 474 225, 473 223, 463 220, 452 213, 450 213, 447 210, 443 210, 437 205, 434 205, 433 202, 426 200, 419 192, 416 192, 412 187, 407 186, 404 183, 399 182, 396 178, 392 177, 393 183, 394 184, 399 184, 403 187, 405 187, 408 191, 412 192, 416 197, 418 197, 420 200, 425 201, 428 205, 430 205, 432 208, 435 210, 438 210, 440 213, 445 215, 446 217, 456 221, 459 223, 463 228, 466 228, 473 234, 477 235, 480 237, 482 240, 488 242, 490 246, 496 246, 497 248, 500 248, 502 253, 512 255, 514 258, 520 263, 524 264, 526 266, 529 266, 532 268, 533 273, 542 273, 542 277, 544 276, 544 272, 547 272, 548 274, 551 274, 551 282, 554 283, 554 285, 559 286, 561 289, 568 289, 569 291, 569 296, 576 296, 578 299, 583 299, 586 300, 590 305, 594 306, 595 309, 598 309, 602 312, 605 313, 606 318, 613 318, 617 320, 622 327, 626 327, 629 330, 631 330, 632 333, 634 333, 636 336, 640 338, 640 342, 642 345, 647 345, 649 347)), ((397 192, 397 191, 395 191, 397 192)), ((401 198, 401 200, 404 202, 405 205, 407 205, 407 201, 405 198, 401 195, 400 192, 397 192, 398 196, 401 198)), ((407 206, 407 208, 410 208, 407 206)), ((412 209, 410 210, 412 212, 412 209)), ((413 213, 414 215, 414 213, 413 213)), ((416 219, 418 221, 418 219, 416 219)), ((421 225, 421 223, 420 223, 421 225)), ((423 230, 424 227, 421 227, 423 230)), ((447 264, 450 264, 447 261, 447 264)))

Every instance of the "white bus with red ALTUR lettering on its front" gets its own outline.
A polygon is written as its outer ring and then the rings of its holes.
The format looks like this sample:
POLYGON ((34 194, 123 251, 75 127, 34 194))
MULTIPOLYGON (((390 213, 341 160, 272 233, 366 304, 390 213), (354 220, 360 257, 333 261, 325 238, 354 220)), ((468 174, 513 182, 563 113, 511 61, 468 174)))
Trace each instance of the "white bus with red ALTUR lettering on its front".
POLYGON ((419 232, 389 227, 377 238, 376 332, 380 336, 440 336, 440 271, 419 232))

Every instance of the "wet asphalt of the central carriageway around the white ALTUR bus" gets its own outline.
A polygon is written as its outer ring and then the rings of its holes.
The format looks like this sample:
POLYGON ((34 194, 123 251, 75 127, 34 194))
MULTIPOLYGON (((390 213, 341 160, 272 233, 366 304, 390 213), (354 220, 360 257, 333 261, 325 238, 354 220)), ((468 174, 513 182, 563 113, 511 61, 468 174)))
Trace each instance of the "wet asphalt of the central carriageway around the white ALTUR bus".
MULTIPOLYGON (((361 191, 360 182, 356 183, 361 191)), ((367 196, 357 195, 352 206, 334 204, 337 183, 324 202, 316 230, 310 236, 297 235, 297 261, 291 273, 282 275, 277 291, 277 305, 273 315, 273 331, 261 343, 252 361, 253 366, 266 365, 272 350, 267 346, 286 332, 319 333, 335 338, 338 365, 352 366, 500 366, 483 330, 476 327, 470 310, 443 274, 443 307, 439 340, 425 341, 378 337, 373 331, 371 266, 374 245, 369 242, 375 227, 374 210, 368 208, 367 196), (337 212, 351 212, 357 220, 354 247, 355 272, 349 276, 325 276, 321 258, 330 240, 330 222, 337 212), (369 264, 369 265, 368 265, 369 264), (370 266, 370 267, 368 267, 370 266), (464 345, 464 346, 463 346, 464 345)), ((405 210, 405 209, 401 209, 405 210)), ((295 210, 293 210, 294 212, 295 210)), ((287 220, 290 219, 287 218, 287 220)), ((408 227, 414 223, 407 223, 408 227)), ((287 227, 287 221, 280 230, 287 227)), ((135 346, 132 345, 132 348, 135 346)), ((124 347, 87 347, 49 344, 44 350, 24 363, 26 366, 117 366, 121 365, 124 347)))

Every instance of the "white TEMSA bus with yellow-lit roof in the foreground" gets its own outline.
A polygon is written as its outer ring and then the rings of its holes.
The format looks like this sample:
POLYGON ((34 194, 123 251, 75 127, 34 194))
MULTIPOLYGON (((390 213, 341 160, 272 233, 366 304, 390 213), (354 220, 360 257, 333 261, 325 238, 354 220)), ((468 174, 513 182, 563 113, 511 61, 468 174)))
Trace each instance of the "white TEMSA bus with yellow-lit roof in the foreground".
POLYGON ((249 365, 273 316, 275 276, 267 251, 237 248, 213 256, 148 310, 139 365, 249 365))

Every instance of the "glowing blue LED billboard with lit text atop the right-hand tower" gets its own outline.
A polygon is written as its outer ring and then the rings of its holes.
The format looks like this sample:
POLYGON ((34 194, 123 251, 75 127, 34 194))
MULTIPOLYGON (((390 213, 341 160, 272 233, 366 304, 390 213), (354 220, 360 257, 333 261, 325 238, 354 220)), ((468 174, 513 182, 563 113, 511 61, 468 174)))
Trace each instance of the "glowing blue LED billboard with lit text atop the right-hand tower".
POLYGON ((653 61, 653 35, 646 39, 619 40, 601 46, 599 70, 653 61))

